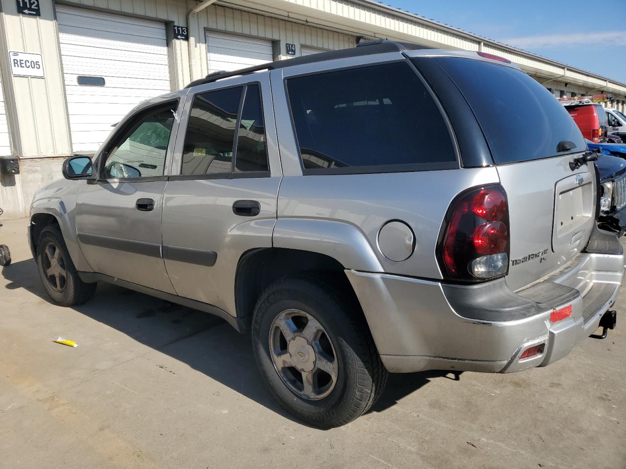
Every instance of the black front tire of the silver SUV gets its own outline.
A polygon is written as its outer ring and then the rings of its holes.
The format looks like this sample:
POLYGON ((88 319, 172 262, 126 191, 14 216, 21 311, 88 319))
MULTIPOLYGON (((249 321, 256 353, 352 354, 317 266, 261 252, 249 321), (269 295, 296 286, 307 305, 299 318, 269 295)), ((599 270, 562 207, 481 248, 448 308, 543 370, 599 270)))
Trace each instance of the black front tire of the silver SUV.
POLYGON ((63 235, 56 225, 49 225, 41 230, 37 243, 37 266, 43 288, 54 303, 61 306, 78 306, 89 300, 96 291, 96 283, 85 283, 78 276, 78 271, 69 257, 68 248, 63 241, 63 235), (54 246, 54 248, 52 247, 54 246), (53 269, 50 257, 46 250, 52 251, 58 260, 58 272, 63 275, 48 276, 46 271, 53 269), (57 251, 58 250, 58 251, 57 251), (54 280, 51 280, 54 279, 54 280), (64 280, 63 280, 64 279, 64 280), (57 283, 58 281, 58 283, 57 283))

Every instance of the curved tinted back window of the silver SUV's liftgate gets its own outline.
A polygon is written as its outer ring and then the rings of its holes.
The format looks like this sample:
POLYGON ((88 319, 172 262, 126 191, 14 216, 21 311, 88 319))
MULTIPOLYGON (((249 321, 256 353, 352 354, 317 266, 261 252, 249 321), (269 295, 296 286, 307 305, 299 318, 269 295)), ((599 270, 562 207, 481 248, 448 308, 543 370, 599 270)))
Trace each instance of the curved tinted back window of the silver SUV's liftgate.
POLYGON ((587 145, 563 105, 520 70, 464 58, 434 59, 476 114, 495 163, 550 158, 587 145), (576 147, 557 153, 560 141, 576 147))

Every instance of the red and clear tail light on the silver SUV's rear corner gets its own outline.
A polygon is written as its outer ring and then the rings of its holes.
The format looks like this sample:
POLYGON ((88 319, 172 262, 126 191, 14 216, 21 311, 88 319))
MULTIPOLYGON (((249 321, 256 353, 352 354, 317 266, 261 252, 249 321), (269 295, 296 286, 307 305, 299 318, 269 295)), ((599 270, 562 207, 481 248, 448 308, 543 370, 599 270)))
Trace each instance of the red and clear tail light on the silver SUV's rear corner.
POLYGON ((438 246, 449 280, 478 282, 508 273, 509 216, 500 184, 470 189, 448 209, 438 246))

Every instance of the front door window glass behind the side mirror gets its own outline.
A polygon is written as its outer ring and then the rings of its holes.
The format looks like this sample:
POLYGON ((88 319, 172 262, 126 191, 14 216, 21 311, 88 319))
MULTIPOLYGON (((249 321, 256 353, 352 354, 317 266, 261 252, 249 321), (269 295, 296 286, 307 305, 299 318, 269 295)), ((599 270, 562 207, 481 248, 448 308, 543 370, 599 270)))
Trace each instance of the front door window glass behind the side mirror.
POLYGON ((110 146, 103 177, 163 176, 175 111, 172 104, 142 113, 110 146))

